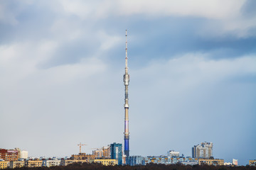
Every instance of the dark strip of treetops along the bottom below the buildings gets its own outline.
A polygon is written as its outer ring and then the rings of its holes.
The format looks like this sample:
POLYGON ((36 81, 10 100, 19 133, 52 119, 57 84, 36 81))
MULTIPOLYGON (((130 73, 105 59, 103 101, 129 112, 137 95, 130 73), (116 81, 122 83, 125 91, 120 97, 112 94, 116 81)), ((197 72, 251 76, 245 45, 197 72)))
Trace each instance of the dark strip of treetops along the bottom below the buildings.
MULTIPOLYGON (((256 170, 256 166, 208 166, 181 164, 147 164, 145 166, 103 166, 102 164, 70 164, 68 166, 16 168, 17 170, 256 170)), ((11 169, 10 169, 11 170, 11 169)))

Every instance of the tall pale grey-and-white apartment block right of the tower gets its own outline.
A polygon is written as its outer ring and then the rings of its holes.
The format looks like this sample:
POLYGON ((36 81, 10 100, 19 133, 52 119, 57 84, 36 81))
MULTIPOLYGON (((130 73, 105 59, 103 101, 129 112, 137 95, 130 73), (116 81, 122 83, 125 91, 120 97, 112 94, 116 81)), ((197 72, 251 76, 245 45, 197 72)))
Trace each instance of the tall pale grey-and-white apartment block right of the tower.
POLYGON ((213 157, 213 142, 202 142, 201 145, 192 147, 192 157, 203 159, 213 157))

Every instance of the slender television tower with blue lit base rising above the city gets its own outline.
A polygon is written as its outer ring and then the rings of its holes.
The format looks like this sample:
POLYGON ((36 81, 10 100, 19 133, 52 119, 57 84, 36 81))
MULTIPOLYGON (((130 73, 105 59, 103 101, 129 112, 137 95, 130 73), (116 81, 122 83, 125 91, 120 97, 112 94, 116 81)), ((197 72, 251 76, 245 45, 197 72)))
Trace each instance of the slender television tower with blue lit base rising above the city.
POLYGON ((127 30, 125 30, 125 73, 124 73, 124 154, 129 157, 129 118, 128 118, 128 86, 129 86, 129 74, 128 74, 128 57, 127 57, 127 30))

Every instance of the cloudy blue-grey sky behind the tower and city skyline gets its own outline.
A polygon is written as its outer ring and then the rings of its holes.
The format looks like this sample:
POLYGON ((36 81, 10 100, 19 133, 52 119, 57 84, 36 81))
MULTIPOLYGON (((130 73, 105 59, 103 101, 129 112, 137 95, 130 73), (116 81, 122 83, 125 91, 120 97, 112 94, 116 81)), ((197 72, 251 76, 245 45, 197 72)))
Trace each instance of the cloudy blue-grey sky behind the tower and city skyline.
POLYGON ((124 139, 130 155, 213 142, 256 159, 255 0, 0 1, 0 147, 65 157, 124 139))

